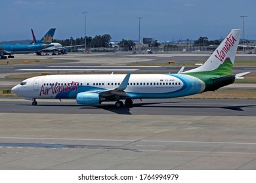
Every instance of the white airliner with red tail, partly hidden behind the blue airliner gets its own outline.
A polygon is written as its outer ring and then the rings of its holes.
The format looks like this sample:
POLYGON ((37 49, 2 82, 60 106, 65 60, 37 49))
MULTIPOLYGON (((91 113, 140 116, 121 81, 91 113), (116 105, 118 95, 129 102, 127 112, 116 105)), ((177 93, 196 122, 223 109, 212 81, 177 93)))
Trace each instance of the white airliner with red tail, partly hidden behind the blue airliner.
MULTIPOLYGON (((35 39, 35 34, 33 33, 33 29, 31 29, 32 31, 32 37, 33 37, 33 42, 37 42, 37 40, 35 39)), ((84 44, 81 45, 75 45, 75 46, 62 46, 62 44, 58 43, 58 42, 51 42, 51 46, 48 48, 44 48, 43 50, 37 51, 35 52, 37 55, 41 56, 43 52, 45 53, 49 53, 49 52, 53 52, 52 55, 56 55, 57 54, 68 54, 68 49, 67 48, 72 48, 72 47, 77 47, 77 46, 85 46, 84 44)))

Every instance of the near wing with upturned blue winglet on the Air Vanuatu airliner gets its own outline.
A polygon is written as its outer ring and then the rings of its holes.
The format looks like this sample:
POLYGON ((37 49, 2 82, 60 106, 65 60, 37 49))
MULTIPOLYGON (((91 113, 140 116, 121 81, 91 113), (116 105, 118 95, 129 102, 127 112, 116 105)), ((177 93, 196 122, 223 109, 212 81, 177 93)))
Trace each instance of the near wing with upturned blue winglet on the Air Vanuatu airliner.
POLYGON ((131 76, 131 73, 127 73, 121 84, 115 88, 115 89, 110 89, 110 90, 95 90, 95 91, 90 91, 90 93, 98 93, 98 95, 101 95, 102 97, 109 97, 112 95, 118 95, 122 97, 129 97, 127 93, 124 92, 124 90, 127 88, 129 78, 131 76))

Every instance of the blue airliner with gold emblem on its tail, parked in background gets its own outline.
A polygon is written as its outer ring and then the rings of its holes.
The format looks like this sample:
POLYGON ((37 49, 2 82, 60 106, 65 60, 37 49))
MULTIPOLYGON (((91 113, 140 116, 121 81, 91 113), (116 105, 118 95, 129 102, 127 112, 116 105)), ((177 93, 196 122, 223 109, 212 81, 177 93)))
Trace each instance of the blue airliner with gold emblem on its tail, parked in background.
POLYGON ((12 54, 30 54, 48 48, 53 41, 55 29, 50 29, 45 36, 35 44, 1 44, 0 45, 0 56, 1 59, 14 58, 12 54))

